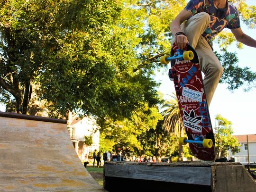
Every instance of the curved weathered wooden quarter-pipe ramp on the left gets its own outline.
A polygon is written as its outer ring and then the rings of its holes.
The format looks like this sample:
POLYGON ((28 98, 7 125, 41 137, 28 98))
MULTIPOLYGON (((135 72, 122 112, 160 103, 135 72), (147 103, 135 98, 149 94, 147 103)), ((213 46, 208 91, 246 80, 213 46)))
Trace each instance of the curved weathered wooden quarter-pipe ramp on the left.
POLYGON ((0 112, 0 192, 106 192, 78 158, 66 121, 0 112))

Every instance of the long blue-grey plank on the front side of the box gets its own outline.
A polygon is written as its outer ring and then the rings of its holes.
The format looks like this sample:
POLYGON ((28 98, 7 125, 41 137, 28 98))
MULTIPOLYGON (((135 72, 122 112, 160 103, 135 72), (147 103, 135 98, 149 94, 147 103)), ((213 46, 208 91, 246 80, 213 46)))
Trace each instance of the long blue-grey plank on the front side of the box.
POLYGON ((183 184, 210 185, 210 167, 104 165, 104 175, 183 184))

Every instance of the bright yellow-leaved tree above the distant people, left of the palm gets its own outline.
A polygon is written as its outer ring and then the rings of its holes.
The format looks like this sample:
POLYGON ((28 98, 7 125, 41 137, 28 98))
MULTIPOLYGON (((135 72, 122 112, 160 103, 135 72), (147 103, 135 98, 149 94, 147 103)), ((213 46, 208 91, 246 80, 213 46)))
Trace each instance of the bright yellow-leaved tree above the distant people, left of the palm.
POLYGON ((147 148, 145 142, 151 140, 145 137, 145 133, 149 130, 155 130, 159 120, 162 119, 157 107, 137 109, 133 112, 131 118, 123 120, 113 120, 105 117, 98 118, 98 124, 101 126, 101 143, 109 143, 104 145, 105 149, 122 149, 125 153, 133 153, 136 155, 150 154, 151 150, 147 148))

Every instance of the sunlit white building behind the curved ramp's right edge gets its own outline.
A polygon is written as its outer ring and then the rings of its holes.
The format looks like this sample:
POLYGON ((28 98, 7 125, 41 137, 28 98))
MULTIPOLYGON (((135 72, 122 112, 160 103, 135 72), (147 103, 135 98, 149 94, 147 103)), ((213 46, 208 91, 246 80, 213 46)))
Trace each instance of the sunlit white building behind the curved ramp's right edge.
POLYGON ((95 119, 92 117, 77 117, 69 113, 68 128, 73 146, 81 161, 89 161, 94 150, 99 151, 100 131, 95 119), (92 145, 87 146, 83 142, 84 136, 92 135, 92 145))

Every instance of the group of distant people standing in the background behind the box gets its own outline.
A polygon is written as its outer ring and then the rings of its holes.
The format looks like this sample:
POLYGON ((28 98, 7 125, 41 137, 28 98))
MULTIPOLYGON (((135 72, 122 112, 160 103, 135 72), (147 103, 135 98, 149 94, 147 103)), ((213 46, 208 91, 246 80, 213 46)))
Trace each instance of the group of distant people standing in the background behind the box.
POLYGON ((103 153, 103 158, 101 156, 101 151, 94 150, 93 151, 93 163, 92 166, 95 167, 95 162, 97 162, 97 167, 101 167, 101 160, 103 159, 103 162, 105 161, 133 161, 133 162, 160 162, 161 158, 158 157, 156 158, 155 156, 150 157, 150 156, 146 156, 146 155, 142 155, 139 157, 131 156, 128 157, 127 155, 123 154, 122 151, 115 151, 115 152, 111 152, 109 151, 105 151, 103 153))

